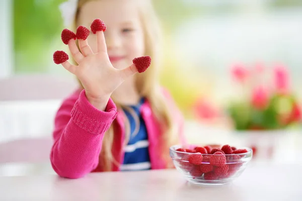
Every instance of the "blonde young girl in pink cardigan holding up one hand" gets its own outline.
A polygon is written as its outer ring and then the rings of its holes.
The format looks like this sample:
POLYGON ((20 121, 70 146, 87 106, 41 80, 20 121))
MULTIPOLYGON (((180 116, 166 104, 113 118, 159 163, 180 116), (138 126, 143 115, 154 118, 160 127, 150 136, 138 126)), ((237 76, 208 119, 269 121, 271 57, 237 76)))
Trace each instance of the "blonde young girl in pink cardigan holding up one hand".
POLYGON ((107 29, 90 33, 78 44, 74 39, 68 42, 77 64, 66 61, 62 66, 81 84, 55 117, 53 169, 62 177, 79 178, 97 171, 173 167, 169 147, 184 144, 183 120, 159 85, 160 30, 152 4, 148 0, 75 3, 75 27, 90 28, 101 19, 107 29), (145 55, 152 63, 138 73, 132 60, 145 55))

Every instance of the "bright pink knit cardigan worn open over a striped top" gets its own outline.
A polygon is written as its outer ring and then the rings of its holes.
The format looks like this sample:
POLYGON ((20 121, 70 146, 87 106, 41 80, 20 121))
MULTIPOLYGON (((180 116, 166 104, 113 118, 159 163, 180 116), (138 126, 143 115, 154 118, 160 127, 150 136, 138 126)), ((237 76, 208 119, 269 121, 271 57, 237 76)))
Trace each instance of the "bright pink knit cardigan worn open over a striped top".
MULTIPOLYGON (((174 105, 172 98, 164 92, 169 106, 174 106, 174 116, 179 125, 179 137, 182 144, 183 119, 180 112, 174 105)), ((145 121, 148 141, 149 155, 152 169, 162 169, 166 167, 166 162, 159 159, 158 145, 160 143, 161 128, 146 101, 141 106, 141 115, 145 121)), ((109 129, 112 122, 114 124, 114 142, 112 153, 114 158, 119 159, 122 164, 124 151, 122 150, 124 141, 123 115, 117 112, 112 99, 109 99, 105 111, 94 108, 87 100, 85 90, 78 89, 66 98, 60 106, 54 122, 53 139, 50 153, 50 161, 54 171, 67 178, 83 177, 90 172, 103 171, 99 164, 99 154, 102 148, 104 133, 109 129)), ((118 171, 119 167, 114 163, 113 171, 118 171)))

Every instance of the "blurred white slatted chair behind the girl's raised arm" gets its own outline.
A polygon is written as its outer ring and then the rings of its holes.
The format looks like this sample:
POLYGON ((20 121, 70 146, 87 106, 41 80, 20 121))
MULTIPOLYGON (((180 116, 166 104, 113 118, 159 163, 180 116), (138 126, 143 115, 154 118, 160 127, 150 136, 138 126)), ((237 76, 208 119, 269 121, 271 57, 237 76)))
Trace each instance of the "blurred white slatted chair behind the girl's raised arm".
POLYGON ((0 176, 43 172, 41 163, 49 172, 54 116, 77 86, 75 78, 48 74, 0 79, 0 176))

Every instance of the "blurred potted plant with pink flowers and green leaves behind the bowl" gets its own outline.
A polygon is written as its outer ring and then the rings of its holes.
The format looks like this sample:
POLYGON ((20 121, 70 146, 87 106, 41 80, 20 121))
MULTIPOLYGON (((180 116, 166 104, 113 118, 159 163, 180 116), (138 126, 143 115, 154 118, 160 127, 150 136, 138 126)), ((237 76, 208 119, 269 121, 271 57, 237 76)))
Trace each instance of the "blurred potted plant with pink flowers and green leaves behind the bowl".
POLYGON ((232 75, 242 88, 239 98, 227 110, 234 129, 237 134, 247 134, 243 138, 255 152, 261 152, 257 155, 271 158, 282 137, 299 127, 302 120, 288 70, 284 65, 235 65, 232 75))

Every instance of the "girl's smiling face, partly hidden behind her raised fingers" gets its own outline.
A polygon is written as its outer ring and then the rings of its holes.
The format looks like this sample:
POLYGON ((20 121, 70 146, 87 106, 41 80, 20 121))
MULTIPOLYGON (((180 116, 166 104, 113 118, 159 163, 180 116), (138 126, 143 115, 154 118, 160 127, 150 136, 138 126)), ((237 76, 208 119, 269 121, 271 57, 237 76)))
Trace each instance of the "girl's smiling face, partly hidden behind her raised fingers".
MULTIPOLYGON (((139 0, 92 1, 80 11, 78 26, 90 29, 95 19, 105 23, 108 56, 117 69, 129 66, 135 57, 144 56, 144 36, 135 1, 139 0)), ((96 52, 96 35, 92 32, 88 43, 96 52)))

